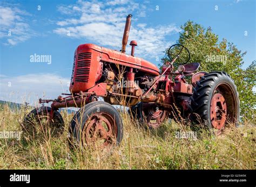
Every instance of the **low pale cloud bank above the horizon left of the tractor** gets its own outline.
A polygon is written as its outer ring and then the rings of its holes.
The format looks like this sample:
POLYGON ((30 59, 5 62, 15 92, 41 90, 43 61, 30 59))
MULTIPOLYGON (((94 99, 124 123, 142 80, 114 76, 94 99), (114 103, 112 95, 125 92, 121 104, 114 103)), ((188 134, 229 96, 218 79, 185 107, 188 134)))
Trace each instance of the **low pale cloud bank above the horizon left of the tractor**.
POLYGON ((56 74, 28 74, 9 77, 0 75, 0 100, 35 105, 39 98, 55 99, 69 93, 70 78, 56 74))

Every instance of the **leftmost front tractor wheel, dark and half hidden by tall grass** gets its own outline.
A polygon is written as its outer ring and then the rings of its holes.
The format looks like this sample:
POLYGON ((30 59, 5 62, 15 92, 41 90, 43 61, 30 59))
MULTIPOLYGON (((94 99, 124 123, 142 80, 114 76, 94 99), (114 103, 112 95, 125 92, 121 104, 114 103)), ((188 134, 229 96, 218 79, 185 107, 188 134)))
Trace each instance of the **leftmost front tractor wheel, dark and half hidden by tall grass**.
POLYGON ((22 124, 23 134, 29 138, 38 138, 38 136, 45 134, 53 137, 62 134, 65 127, 62 115, 55 110, 50 120, 51 110, 51 107, 42 106, 28 113, 22 124))

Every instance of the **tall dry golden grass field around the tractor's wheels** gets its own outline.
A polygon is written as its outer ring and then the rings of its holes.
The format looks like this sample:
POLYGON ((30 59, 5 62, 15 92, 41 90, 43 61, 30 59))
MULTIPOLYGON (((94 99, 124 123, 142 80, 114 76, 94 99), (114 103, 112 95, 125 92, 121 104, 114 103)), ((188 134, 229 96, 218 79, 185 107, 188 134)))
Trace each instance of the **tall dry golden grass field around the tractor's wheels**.
MULTIPOLYGON (((0 131, 21 131, 25 109, 0 111, 0 131)), ((0 139, 0 169, 255 169, 255 123, 246 121, 220 136, 177 138, 190 127, 166 122, 145 130, 123 114, 124 136, 111 150, 68 145, 71 114, 62 112, 65 132, 59 138, 25 141, 0 139)))

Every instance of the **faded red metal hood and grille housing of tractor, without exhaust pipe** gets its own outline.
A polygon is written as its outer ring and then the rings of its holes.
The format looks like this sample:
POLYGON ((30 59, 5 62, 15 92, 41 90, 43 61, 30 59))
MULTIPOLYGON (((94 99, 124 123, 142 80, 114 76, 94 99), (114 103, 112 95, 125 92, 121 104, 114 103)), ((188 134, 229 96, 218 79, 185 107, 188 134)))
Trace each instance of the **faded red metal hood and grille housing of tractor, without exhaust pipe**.
POLYGON ((94 44, 79 45, 76 52, 69 89, 72 93, 87 91, 95 85, 102 75, 103 61, 141 70, 146 74, 159 75, 157 66, 149 61, 94 44))

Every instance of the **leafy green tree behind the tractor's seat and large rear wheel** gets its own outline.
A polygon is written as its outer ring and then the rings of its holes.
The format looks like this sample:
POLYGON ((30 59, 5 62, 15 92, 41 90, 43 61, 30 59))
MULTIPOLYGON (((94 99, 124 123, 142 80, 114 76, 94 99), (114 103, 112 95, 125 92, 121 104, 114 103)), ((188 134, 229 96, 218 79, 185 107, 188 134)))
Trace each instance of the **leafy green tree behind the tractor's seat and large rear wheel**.
MULTIPOLYGON (((233 78, 239 92, 241 115, 252 119, 255 116, 256 86, 255 60, 251 65, 242 69, 243 57, 246 52, 241 52, 232 42, 226 39, 219 40, 211 27, 187 21, 181 26, 178 44, 184 45, 191 53, 190 62, 199 62, 201 71, 225 71, 233 78)), ((167 51, 161 63, 168 60, 167 51)), ((160 64, 161 65, 161 64, 160 64)))

